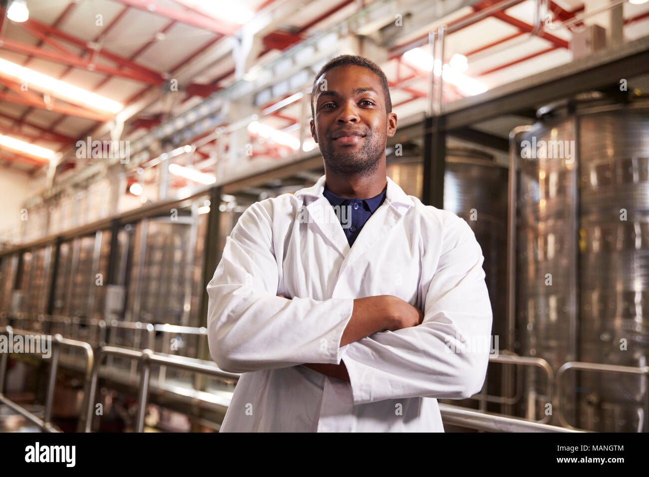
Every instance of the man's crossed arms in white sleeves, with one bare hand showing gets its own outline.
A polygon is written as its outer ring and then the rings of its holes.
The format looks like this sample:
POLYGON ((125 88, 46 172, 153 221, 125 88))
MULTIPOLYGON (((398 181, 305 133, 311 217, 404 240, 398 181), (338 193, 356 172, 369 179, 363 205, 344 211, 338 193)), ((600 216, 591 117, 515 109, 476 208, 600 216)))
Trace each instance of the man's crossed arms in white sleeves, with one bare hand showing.
POLYGON ((457 216, 448 221, 434 273, 421 276, 420 312, 390 295, 276 296, 272 219, 263 204, 253 204, 228 237, 207 286, 212 359, 233 373, 304 364, 349 382, 354 404, 477 393, 489 351, 454 350, 491 334, 484 258, 469 225, 457 216))

